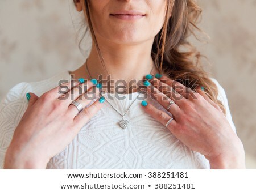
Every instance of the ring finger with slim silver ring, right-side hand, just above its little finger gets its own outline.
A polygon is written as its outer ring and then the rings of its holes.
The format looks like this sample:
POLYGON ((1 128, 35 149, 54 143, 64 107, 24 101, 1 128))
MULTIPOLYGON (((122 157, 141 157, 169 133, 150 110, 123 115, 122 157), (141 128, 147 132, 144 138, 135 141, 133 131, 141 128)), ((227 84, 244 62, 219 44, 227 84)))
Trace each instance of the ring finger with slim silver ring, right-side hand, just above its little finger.
MULTIPOLYGON (((170 105, 170 101, 171 101, 170 97, 168 97, 164 93, 160 92, 154 86, 148 86, 147 91, 150 94, 152 100, 158 101, 158 103, 160 105, 162 105, 164 107, 164 109, 167 110, 168 106, 170 105)), ((180 113, 180 107, 176 103, 174 103, 170 106, 169 110, 167 110, 167 111, 170 112, 174 117, 177 117, 180 113)))

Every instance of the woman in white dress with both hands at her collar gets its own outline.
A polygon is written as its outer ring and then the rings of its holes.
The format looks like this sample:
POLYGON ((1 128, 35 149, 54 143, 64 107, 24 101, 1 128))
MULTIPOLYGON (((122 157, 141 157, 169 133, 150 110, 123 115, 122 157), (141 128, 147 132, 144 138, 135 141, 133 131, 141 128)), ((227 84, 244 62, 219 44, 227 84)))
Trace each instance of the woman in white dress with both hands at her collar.
POLYGON ((201 13, 194 0, 74 3, 92 35, 89 57, 7 93, 3 168, 245 168, 225 91, 187 41, 201 13))

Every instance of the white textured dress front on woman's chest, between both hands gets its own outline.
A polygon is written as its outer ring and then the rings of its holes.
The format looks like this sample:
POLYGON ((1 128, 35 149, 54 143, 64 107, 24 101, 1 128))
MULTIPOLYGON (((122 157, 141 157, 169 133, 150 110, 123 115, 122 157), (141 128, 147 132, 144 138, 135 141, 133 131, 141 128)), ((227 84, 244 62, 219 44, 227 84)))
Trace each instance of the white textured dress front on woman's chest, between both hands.
POLYGON ((166 127, 133 108, 121 116, 100 110, 63 152, 48 163, 53 169, 207 169, 203 155, 184 146, 166 127))

